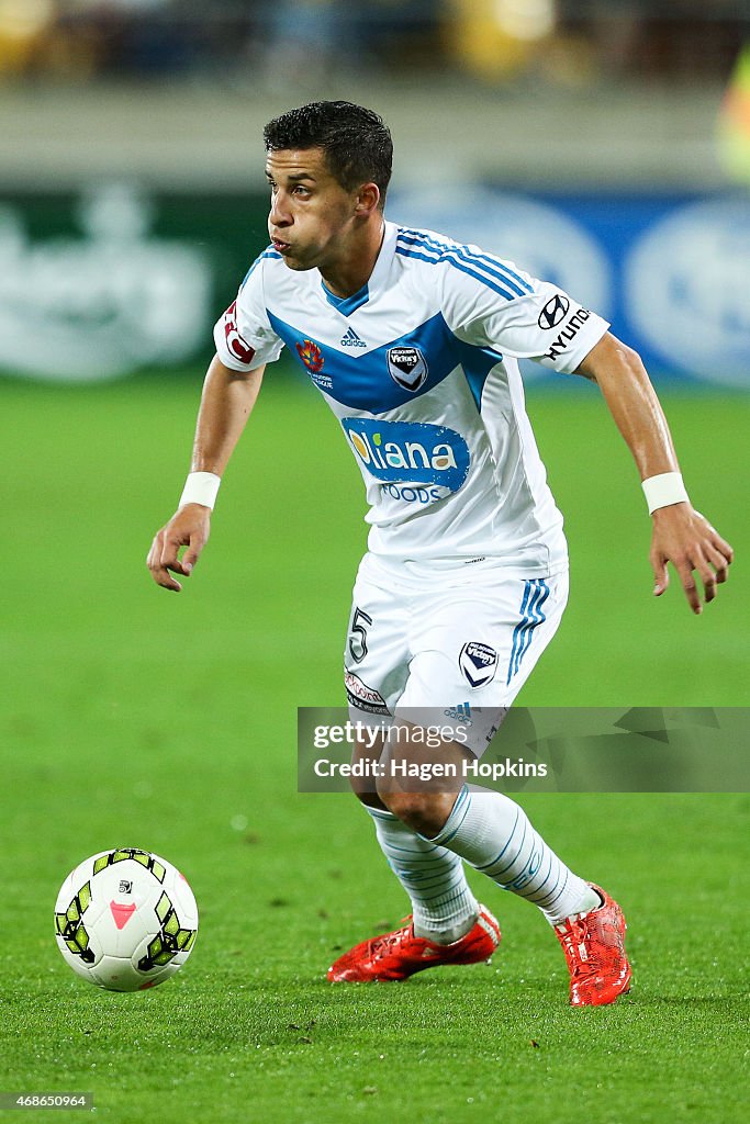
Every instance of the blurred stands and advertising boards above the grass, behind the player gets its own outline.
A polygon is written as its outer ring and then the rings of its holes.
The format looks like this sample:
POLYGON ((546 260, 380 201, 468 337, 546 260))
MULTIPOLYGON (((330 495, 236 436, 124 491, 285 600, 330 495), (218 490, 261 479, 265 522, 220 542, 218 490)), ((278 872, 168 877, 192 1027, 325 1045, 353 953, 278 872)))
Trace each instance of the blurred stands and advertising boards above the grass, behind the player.
POLYGON ((726 0, 0 0, 0 371, 202 363, 264 243, 262 125, 346 97, 394 130, 392 218, 742 387, 747 42, 726 0))

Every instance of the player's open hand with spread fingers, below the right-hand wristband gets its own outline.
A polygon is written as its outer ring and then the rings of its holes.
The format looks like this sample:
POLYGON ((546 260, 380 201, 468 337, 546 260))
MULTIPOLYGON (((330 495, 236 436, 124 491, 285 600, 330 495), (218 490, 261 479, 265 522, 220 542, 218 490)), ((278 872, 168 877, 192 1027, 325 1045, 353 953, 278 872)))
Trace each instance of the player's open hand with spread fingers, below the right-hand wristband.
POLYGON ((667 563, 679 573, 685 596, 694 613, 702 613, 701 592, 694 574, 703 582, 704 599, 713 601, 716 587, 726 581, 734 558, 730 544, 689 504, 658 508, 652 517, 651 565, 656 597, 669 586, 667 563))

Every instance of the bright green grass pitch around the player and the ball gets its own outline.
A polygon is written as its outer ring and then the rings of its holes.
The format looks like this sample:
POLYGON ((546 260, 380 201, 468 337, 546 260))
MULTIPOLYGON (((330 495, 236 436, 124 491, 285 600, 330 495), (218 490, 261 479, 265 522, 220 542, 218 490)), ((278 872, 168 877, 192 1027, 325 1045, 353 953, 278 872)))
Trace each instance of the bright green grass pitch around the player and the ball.
MULTIPOLYGON (((545 923, 480 878, 491 966, 325 982, 406 909, 354 800, 296 792, 296 707, 342 701, 361 484, 323 404, 270 371, 188 589, 157 590, 144 558, 199 382, 0 388, 0 1091, 92 1091, 114 1124, 739 1117, 747 795, 522 798, 627 912, 635 986, 613 1008, 571 1010, 545 923), (180 865, 201 910, 184 971, 142 995, 79 981, 53 937, 63 877, 114 845, 180 865)), ((521 701, 743 705, 742 400, 667 397, 694 499, 739 554, 702 618, 675 586, 651 597, 648 516, 595 390, 530 405, 572 592, 521 701)))

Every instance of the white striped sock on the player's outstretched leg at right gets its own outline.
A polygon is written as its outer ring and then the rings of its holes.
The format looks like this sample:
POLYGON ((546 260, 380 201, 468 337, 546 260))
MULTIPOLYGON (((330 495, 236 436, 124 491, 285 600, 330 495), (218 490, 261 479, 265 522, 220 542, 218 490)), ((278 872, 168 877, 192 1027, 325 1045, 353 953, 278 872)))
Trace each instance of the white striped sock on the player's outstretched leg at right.
POLYGON ((599 907, 599 896, 573 874, 501 792, 459 792, 432 843, 446 846, 504 890, 539 906, 551 925, 599 907))

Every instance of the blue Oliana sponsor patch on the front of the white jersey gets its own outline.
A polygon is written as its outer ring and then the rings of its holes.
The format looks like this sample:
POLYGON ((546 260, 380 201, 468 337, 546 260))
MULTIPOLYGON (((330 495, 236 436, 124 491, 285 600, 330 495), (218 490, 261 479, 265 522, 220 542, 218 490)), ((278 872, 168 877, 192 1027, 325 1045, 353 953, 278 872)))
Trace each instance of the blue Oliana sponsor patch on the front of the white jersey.
POLYGON ((469 446, 455 429, 371 418, 341 424, 358 460, 383 483, 439 484, 453 492, 469 474, 469 446))

